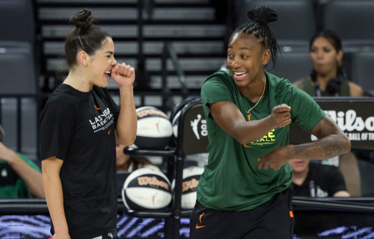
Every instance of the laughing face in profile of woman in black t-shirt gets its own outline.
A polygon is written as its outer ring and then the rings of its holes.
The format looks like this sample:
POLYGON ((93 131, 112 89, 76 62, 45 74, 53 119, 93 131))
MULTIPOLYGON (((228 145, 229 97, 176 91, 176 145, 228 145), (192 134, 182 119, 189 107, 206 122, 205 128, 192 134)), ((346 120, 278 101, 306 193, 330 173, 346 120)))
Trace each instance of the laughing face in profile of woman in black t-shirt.
POLYGON ((110 37, 103 41, 101 49, 96 54, 89 57, 89 82, 92 85, 105 88, 108 85, 111 68, 116 65, 114 59, 114 43, 110 37))

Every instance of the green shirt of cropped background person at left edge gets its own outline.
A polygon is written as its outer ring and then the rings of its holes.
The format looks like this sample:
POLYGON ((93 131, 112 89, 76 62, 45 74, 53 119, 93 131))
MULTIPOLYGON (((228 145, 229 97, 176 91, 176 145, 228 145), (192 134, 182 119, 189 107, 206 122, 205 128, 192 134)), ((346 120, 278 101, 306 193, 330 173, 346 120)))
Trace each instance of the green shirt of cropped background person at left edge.
MULTIPOLYGON (((17 153, 28 165, 42 172, 40 168, 25 155, 17 153)), ((1 156, 0 156, 1 157, 1 156)), ((5 161, 0 160, 0 198, 28 198, 27 184, 5 161)))

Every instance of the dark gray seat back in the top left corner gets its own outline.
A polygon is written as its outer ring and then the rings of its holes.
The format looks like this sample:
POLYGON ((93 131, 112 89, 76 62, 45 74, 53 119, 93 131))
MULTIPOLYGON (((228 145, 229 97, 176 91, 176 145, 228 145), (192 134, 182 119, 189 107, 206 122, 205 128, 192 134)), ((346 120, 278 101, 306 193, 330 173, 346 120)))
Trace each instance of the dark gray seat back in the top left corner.
POLYGON ((32 0, 0 0, 0 40, 34 43, 35 19, 32 0))

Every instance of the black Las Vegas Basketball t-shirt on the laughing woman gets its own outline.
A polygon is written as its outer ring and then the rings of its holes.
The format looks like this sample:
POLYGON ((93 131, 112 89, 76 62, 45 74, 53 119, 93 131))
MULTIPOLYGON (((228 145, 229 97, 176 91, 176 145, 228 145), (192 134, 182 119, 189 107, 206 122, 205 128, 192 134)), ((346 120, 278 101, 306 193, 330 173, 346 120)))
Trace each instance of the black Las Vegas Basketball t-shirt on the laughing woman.
POLYGON ((53 91, 42 111, 40 157, 64 160, 60 179, 71 239, 116 229, 118 114, 106 88, 81 92, 66 84, 53 91))

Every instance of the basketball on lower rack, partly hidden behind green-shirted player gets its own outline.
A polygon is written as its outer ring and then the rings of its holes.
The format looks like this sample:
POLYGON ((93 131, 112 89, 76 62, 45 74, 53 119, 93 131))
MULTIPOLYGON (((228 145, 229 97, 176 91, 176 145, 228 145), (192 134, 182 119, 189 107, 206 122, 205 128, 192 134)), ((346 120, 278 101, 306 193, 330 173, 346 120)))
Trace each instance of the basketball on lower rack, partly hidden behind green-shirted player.
MULTIPOLYGON (((203 167, 192 166, 183 169, 182 179, 182 199, 181 208, 191 209, 196 202, 196 189, 201 174, 204 172, 203 167)), ((172 189, 174 189, 175 181, 173 180, 172 189)))

